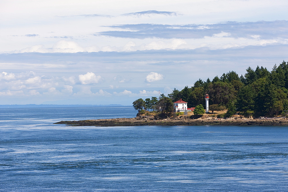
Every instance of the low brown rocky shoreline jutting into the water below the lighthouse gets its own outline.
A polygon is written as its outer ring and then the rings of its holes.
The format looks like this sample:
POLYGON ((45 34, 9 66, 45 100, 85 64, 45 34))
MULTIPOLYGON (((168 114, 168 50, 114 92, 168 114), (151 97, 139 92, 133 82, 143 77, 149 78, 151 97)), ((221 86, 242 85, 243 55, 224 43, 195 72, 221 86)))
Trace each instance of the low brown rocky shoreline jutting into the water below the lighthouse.
POLYGON ((224 126, 245 126, 245 125, 260 125, 260 126, 287 126, 287 118, 272 118, 272 119, 212 119, 212 118, 171 118, 171 119, 149 119, 149 118, 116 118, 116 119, 97 119, 97 120, 79 120, 79 121, 60 121, 54 124, 66 124, 68 126, 196 126, 196 125, 224 125, 224 126))

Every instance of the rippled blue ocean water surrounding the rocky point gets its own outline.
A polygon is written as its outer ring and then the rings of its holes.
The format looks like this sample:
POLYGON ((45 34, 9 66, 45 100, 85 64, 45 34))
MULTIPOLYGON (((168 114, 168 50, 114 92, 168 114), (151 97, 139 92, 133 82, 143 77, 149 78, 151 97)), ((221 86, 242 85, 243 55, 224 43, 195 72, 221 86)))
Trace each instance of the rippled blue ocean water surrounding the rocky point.
POLYGON ((287 191, 287 126, 53 124, 133 107, 0 110, 0 191, 287 191))

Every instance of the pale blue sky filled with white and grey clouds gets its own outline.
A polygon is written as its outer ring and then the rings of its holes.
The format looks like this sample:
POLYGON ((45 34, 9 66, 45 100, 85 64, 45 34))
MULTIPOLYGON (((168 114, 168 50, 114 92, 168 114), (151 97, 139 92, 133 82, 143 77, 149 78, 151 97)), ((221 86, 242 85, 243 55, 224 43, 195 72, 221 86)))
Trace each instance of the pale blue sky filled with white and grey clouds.
MULTIPOLYGON (((0 105, 131 105, 288 61, 286 0, 1 0, 0 105)), ((204 96, 203 96, 204 97, 204 96)))

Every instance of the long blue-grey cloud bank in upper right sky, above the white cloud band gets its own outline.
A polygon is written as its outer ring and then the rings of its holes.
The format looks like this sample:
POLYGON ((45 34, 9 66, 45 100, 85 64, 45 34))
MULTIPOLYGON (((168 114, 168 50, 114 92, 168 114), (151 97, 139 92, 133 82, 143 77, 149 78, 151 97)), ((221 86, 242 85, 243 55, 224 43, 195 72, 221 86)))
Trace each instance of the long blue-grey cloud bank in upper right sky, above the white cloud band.
MULTIPOLYGON (((103 31, 95 34, 121 38, 162 38, 162 39, 199 39, 213 37, 214 34, 226 33, 226 37, 271 39, 288 38, 288 21, 225 22, 218 24, 121 24, 107 26, 119 31, 103 31)), ((223 36, 224 37, 224 36, 223 36)))

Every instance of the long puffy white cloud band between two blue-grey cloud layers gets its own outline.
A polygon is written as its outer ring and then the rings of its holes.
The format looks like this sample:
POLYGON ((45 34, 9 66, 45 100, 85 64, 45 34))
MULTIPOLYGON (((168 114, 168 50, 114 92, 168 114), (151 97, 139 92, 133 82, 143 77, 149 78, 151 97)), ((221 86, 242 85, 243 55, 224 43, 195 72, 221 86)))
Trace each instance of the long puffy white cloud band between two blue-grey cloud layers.
POLYGON ((156 40, 137 40, 137 43, 133 41, 118 43, 118 46, 104 45, 98 48, 96 45, 88 47, 81 47, 74 41, 62 40, 57 42, 53 47, 46 48, 43 45, 34 45, 27 47, 20 51, 10 51, 7 53, 24 53, 24 52, 39 52, 39 53, 77 53, 77 52, 122 52, 122 51, 144 51, 144 50, 162 50, 162 49, 197 49, 201 47, 207 47, 208 49, 227 49, 231 47, 242 47, 249 45, 268 45, 279 43, 283 45, 288 44, 288 39, 283 37, 271 37, 270 39, 261 39, 260 35, 251 35, 248 37, 232 37, 228 32, 216 33, 203 38, 190 38, 190 39, 161 39, 156 40))

